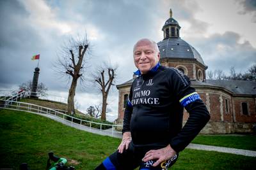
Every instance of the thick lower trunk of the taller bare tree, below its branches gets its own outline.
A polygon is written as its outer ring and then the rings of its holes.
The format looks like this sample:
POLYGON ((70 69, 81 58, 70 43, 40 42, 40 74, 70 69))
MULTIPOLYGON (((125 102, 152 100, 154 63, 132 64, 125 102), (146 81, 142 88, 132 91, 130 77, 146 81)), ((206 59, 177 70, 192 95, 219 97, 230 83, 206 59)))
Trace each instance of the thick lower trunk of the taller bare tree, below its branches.
POLYGON ((77 79, 73 79, 68 92, 68 114, 75 114, 74 97, 76 95, 77 79))

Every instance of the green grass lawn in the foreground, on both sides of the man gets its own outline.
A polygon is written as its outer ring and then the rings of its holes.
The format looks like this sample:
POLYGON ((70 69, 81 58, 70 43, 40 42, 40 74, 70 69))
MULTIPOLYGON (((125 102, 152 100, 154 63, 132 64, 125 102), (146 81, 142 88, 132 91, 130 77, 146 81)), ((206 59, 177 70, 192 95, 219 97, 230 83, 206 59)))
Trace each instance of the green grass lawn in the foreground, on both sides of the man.
MULTIPOLYGON (((93 169, 120 139, 79 131, 32 113, 0 110, 0 169, 45 169, 47 153, 67 158, 76 169, 93 169), (4 161, 3 161, 4 160, 4 161)), ((256 169, 255 157, 186 149, 172 169, 256 169)))

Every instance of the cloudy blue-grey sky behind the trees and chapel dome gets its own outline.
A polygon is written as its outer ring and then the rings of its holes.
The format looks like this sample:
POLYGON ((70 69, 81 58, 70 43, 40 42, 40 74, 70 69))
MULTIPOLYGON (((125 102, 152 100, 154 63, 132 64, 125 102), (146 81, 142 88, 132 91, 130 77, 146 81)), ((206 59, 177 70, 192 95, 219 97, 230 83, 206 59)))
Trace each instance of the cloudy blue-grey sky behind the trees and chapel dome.
MULTIPOLYGON (((70 37, 87 33, 85 77, 90 79, 104 61, 118 65, 116 84, 132 78, 135 67, 132 47, 140 38, 163 39, 161 31, 170 17, 180 24, 180 38, 194 46, 209 70, 230 67, 246 71, 256 61, 255 0, 95 0, 95 1, 0 1, 0 89, 14 90, 32 80, 40 54, 39 81, 49 96, 67 98, 68 83, 54 72, 53 63, 70 37)), ((79 110, 99 104, 95 85, 78 85, 79 110)), ((111 113, 117 118, 118 92, 109 96, 111 113)))

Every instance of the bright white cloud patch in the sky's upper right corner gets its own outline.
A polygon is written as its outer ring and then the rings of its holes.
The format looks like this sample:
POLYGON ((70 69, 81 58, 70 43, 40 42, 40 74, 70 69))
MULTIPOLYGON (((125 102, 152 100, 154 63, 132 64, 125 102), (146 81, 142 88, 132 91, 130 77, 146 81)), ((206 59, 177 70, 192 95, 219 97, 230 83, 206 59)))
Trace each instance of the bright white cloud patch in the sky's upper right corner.
POLYGON ((241 35, 240 42, 248 40, 256 47, 256 38, 253 36, 256 24, 252 22, 250 13, 239 15, 238 11, 243 9, 241 4, 234 0, 198 0, 198 4, 203 10, 196 12, 195 18, 209 24, 206 36, 226 31, 237 32, 241 35))

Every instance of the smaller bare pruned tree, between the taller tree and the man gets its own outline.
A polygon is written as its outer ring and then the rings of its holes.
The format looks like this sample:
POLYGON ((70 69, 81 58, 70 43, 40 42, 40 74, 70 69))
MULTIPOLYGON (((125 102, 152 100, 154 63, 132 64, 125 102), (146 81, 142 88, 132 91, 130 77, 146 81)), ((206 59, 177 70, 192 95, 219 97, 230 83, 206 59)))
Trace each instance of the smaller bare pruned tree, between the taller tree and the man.
POLYGON ((105 63, 104 66, 100 67, 98 73, 93 75, 93 78, 97 82, 99 90, 102 93, 101 120, 106 120, 108 94, 111 86, 114 85, 113 82, 115 82, 116 69, 117 67, 105 63), (105 74, 106 72, 107 74, 105 74))

